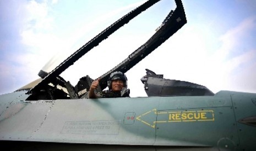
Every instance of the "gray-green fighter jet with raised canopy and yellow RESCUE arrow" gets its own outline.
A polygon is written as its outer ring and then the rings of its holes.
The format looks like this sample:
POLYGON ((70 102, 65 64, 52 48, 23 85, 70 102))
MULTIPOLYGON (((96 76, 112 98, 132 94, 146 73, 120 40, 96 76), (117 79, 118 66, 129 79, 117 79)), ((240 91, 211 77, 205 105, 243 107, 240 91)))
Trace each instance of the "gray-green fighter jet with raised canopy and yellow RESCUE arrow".
MULTIPOLYGON (((256 148, 256 94, 219 91, 165 79, 146 69, 147 97, 88 98, 89 75, 73 86, 60 74, 157 0, 130 11, 92 38, 51 72, 0 96, 0 142, 8 150, 253 150, 256 148)), ((102 74, 126 73, 186 23, 175 0, 161 26, 127 59, 102 74)), ((89 71, 88 71, 89 72, 89 71)), ((127 91, 124 91, 125 94, 127 91)))

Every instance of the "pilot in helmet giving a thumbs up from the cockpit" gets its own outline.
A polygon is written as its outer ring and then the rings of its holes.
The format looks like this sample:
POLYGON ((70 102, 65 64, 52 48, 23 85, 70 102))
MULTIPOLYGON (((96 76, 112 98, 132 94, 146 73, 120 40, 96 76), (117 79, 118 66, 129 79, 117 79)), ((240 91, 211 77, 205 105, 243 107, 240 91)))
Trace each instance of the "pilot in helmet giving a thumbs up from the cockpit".
POLYGON ((89 98, 129 97, 130 90, 127 89, 127 77, 122 72, 111 73, 107 81, 108 90, 95 93, 95 89, 99 86, 99 81, 100 78, 91 83, 89 98))

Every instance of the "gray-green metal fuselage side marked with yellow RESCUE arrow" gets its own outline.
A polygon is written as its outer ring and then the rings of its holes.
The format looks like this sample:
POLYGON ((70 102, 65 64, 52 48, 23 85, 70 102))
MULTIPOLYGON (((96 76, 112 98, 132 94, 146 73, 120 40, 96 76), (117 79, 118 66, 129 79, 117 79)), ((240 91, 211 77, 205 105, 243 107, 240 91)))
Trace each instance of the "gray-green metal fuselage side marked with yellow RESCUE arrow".
POLYGON ((6 100, 0 140, 252 149, 255 126, 237 123, 256 114, 252 98, 256 94, 220 91, 194 97, 6 100), (240 113, 244 107, 248 112, 240 113))

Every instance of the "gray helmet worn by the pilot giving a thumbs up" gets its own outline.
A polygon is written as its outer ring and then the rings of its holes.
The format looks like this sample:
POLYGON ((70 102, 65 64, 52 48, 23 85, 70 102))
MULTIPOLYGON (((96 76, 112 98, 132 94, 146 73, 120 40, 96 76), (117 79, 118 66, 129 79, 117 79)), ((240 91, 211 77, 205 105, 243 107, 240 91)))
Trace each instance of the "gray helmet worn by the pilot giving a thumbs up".
POLYGON ((108 81, 107 81, 107 86, 108 86, 108 89, 110 89, 110 90, 112 89, 111 88, 112 80, 121 80, 123 82, 123 86, 125 88, 127 88, 127 77, 126 77, 126 74, 123 74, 120 71, 116 71, 116 72, 111 73, 110 74, 110 78, 108 78, 108 81))

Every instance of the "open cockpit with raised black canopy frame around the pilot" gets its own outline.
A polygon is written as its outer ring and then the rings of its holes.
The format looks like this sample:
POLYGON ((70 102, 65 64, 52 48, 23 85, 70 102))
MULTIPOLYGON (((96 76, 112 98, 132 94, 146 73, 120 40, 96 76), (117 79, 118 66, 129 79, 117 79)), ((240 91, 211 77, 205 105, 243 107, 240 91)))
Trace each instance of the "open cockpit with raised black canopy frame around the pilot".
MULTIPOLYGON (((86 93, 89 91, 91 82, 94 79, 90 78, 89 75, 86 75, 81 77, 78 83, 73 86, 69 81, 66 81, 61 77, 61 73, 72 66, 74 62, 88 53, 92 48, 99 45, 102 40, 108 38, 110 34, 117 31, 120 27, 127 24, 130 20, 157 2, 158 1, 149 0, 130 11, 121 19, 108 26, 104 31, 97 34, 97 36, 89 40, 88 43, 84 44, 83 47, 75 51, 55 69, 50 71, 42 69, 38 73, 40 79, 35 80, 19 90, 28 90, 27 94, 30 96, 27 100, 88 98, 86 93)), ((155 30, 155 33, 148 40, 146 40, 144 44, 140 45, 138 49, 133 51, 132 54, 128 55, 128 57, 120 62, 117 66, 100 76, 100 88, 97 91, 100 92, 107 87, 107 79, 112 72, 121 71, 122 73, 126 73, 130 68, 137 65, 137 63, 143 60, 187 23, 182 2, 176 0, 175 3, 175 10, 171 10, 167 14, 164 21, 162 21, 161 26, 155 30)), ((146 75, 141 78, 141 82, 144 84, 144 89, 148 96, 214 95, 213 92, 211 92, 205 86, 189 82, 164 79, 163 75, 155 74, 149 69, 146 69, 146 75)))

